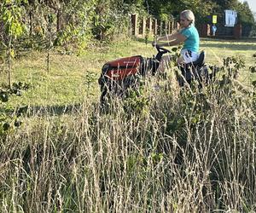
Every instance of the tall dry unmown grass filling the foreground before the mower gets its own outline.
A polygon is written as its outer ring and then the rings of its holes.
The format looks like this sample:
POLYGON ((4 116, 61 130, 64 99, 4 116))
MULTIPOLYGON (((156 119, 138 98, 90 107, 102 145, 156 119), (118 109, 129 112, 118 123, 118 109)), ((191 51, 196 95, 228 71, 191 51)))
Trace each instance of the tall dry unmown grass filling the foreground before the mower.
POLYGON ((155 83, 3 135, 1 212, 255 211, 253 89, 155 83))

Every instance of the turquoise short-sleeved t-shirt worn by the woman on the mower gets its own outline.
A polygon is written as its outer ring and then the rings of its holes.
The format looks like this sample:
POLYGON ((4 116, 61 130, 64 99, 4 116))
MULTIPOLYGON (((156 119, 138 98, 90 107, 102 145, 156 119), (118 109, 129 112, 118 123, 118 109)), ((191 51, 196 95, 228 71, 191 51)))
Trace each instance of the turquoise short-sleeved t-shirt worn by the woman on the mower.
POLYGON ((184 28, 181 34, 187 39, 184 41, 183 49, 191 50, 195 53, 199 51, 199 34, 194 25, 184 28))

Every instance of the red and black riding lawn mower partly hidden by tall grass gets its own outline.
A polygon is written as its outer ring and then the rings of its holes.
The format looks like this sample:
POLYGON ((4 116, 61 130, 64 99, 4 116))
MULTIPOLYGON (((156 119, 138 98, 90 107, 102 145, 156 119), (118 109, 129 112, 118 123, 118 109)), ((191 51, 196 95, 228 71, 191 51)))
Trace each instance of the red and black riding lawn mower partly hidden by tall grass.
MULTIPOLYGON (((107 62, 102 66, 101 77, 98 83, 101 87, 101 103, 106 101, 109 94, 123 96, 125 91, 133 88, 137 83, 137 76, 147 78, 154 76, 160 66, 160 60, 170 50, 155 45, 157 55, 152 58, 146 58, 142 55, 120 58, 107 62)), ((172 59, 172 55, 170 56, 172 59)), ((178 84, 183 87, 185 83, 191 83, 197 80, 208 82, 212 79, 212 73, 209 74, 205 64, 205 52, 201 51, 198 60, 185 65, 178 65, 181 75, 177 75, 178 84)))

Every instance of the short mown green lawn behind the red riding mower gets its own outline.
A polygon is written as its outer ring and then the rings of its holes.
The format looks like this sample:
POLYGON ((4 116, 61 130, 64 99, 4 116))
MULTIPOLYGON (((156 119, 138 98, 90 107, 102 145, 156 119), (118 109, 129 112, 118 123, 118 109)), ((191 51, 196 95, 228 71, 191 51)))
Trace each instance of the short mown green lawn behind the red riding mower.
MULTIPOLYGON (((201 49, 206 50, 208 65, 222 65, 224 57, 239 55, 246 61, 246 68, 241 72, 241 81, 249 81, 253 76, 248 67, 253 66, 252 55, 256 52, 253 41, 227 41, 202 39, 201 49)), ((84 55, 61 55, 55 51, 50 55, 50 72, 46 69, 46 54, 27 53, 12 63, 12 81, 31 83, 22 97, 13 97, 9 105, 69 105, 79 103, 90 96, 95 101, 99 97, 97 78, 102 65, 120 57, 143 55, 152 57, 156 50, 146 45, 143 40, 113 43, 108 47, 91 47, 84 55)), ((0 73, 0 83, 7 83, 7 73, 0 73)), ((254 78, 254 77, 253 77, 254 78)))

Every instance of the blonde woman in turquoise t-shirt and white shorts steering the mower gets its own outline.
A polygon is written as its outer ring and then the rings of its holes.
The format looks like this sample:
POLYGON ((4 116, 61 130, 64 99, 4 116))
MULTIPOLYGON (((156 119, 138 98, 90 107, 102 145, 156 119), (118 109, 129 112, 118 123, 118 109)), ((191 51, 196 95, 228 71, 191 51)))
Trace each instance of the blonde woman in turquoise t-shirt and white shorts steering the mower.
POLYGON ((175 46, 183 43, 181 49, 181 56, 177 59, 177 63, 190 63, 198 59, 199 52, 199 34, 195 28, 195 15, 191 10, 183 10, 180 13, 180 26, 182 29, 179 32, 167 35, 165 37, 158 37, 156 44, 160 47, 175 46), (167 41, 167 43, 159 43, 167 41))

